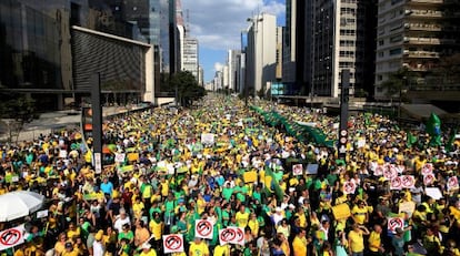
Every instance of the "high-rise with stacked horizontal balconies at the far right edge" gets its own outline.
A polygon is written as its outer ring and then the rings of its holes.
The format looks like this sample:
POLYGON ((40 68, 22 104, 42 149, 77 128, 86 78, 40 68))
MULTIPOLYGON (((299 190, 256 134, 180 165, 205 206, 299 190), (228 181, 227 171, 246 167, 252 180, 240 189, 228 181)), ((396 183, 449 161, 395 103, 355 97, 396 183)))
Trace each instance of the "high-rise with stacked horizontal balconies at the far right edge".
MULTIPOLYGON (((389 96, 381 84, 401 68, 407 68, 416 78, 407 84, 408 89, 429 88, 429 73, 440 60, 460 53, 459 13, 460 2, 456 0, 379 0, 377 99, 389 96)), ((439 81, 434 83, 440 84, 439 81)), ((440 93, 437 90, 436 94, 440 93)))

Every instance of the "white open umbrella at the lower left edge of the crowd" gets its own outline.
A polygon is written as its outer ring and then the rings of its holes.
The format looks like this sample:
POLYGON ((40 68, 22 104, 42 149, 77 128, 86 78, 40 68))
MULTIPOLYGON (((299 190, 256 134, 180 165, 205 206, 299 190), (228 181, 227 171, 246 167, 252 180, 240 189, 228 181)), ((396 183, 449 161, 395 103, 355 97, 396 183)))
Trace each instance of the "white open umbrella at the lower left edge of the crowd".
POLYGON ((0 195, 0 222, 30 215, 41 208, 44 196, 30 191, 14 191, 0 195))

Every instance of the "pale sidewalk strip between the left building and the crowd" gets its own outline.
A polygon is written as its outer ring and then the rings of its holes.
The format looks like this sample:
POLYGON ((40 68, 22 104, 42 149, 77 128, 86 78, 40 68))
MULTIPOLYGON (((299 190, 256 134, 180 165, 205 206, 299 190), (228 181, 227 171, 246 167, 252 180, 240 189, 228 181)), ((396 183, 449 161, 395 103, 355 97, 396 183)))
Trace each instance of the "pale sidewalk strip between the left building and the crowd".
MULTIPOLYGON (((113 116, 119 114, 124 114, 130 111, 139 111, 148 109, 143 105, 132 105, 132 106, 104 106, 102 107, 102 116, 113 116)), ((8 120, 1 120, 2 123, 7 123, 8 120)), ((22 130, 19 133, 18 142, 21 141, 32 141, 37 139, 40 134, 49 134, 61 129, 78 129, 80 130, 81 121, 81 111, 56 111, 43 113, 39 119, 33 120, 30 123, 24 124, 22 130)), ((0 133, 0 141, 8 141, 9 136, 8 127, 3 129, 0 133)), ((13 136, 12 141, 16 142, 17 131, 12 131, 13 136)))

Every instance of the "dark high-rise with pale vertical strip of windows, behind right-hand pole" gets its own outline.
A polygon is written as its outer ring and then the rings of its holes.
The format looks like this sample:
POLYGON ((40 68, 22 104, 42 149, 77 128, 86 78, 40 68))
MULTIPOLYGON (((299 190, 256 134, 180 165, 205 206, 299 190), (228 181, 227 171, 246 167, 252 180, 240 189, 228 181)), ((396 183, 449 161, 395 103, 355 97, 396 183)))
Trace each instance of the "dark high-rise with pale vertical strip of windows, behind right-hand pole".
POLYGON ((317 0, 312 3, 311 89, 337 98, 340 75, 350 70, 350 94, 371 91, 374 73, 376 0, 317 0))

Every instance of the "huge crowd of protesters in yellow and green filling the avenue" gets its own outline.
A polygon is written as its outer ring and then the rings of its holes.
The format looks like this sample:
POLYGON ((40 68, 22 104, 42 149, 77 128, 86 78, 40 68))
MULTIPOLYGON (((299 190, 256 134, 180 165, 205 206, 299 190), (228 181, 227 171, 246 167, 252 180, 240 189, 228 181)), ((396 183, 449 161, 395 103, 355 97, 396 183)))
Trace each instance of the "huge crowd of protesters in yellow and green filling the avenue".
MULTIPOLYGON (((253 104, 337 140, 338 119, 319 110, 253 104)), ((404 131, 362 113, 350 116, 348 131, 340 160, 334 149, 268 125, 237 99, 210 96, 189 110, 157 107, 104 121, 101 173, 92 164, 92 139, 80 131, 3 144, 0 195, 43 194, 48 214, 28 217, 27 242, 1 253, 164 255, 162 236, 182 234, 184 250, 173 256, 460 255, 459 188, 448 184, 459 175, 458 143, 447 145, 450 133, 441 146, 429 146, 422 125, 404 131), (410 145, 408 133, 418 142, 410 145), (202 134, 214 136, 203 143, 202 134), (296 163, 303 164, 301 175, 293 175, 296 163), (317 172, 307 172, 308 164, 317 172), (413 187, 391 190, 376 175, 386 165, 413 175, 413 187), (343 188, 349 182, 352 193, 343 188), (439 188, 441 198, 426 187, 439 188), (406 202, 413 211, 399 211, 406 202), (339 205, 349 216, 336 217, 339 205), (403 226, 389 231, 392 217, 403 226), (212 239, 196 236, 197 219, 214 225, 212 239), (243 246, 219 243, 218 231, 229 226, 244 229, 243 246)))

